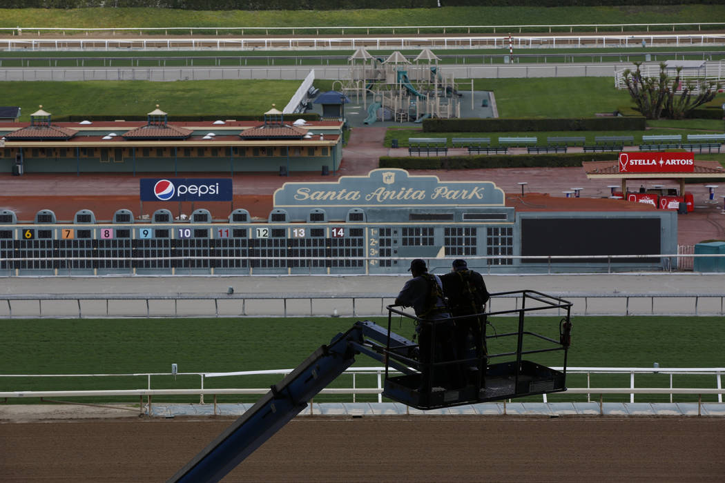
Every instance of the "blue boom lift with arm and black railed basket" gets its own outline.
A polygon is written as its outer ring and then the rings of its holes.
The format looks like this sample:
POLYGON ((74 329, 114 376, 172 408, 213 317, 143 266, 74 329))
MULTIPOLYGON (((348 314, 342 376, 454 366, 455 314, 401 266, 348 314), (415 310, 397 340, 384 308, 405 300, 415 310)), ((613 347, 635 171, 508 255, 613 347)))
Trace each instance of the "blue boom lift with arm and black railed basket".
MULTIPOLYGON (((515 300, 516 308, 465 317, 469 320, 475 317, 484 323, 484 327, 486 317, 518 317, 515 330, 484 337, 489 347, 495 345, 496 348, 502 348, 496 353, 476 353, 476 350, 471 350, 454 360, 442 357, 439 348, 446 332, 440 328, 444 324, 450 326, 452 320, 464 317, 418 319, 388 306, 387 328, 370 321, 355 322, 347 332, 336 335, 328 345, 315 350, 281 382, 273 385, 270 392, 189 461, 169 482, 218 482, 307 408, 307 402, 351 366, 355 356, 360 353, 385 364, 384 397, 418 409, 445 408, 566 390, 572 304, 534 290, 494 293, 491 298, 506 295, 510 296, 511 301, 515 300), (521 308, 518 308, 519 302, 521 308), (552 309, 555 316, 560 317, 556 338, 528 329, 528 326, 535 325, 537 330, 541 330, 545 328, 542 327, 544 324, 551 323, 545 319, 537 321, 536 318, 526 321, 526 314, 552 315, 552 309), (397 319, 398 316, 414 319, 421 330, 426 324, 431 327, 433 337, 428 348, 392 332, 394 317, 397 319), (437 343, 436 335, 440 339, 437 343), (507 341, 510 345, 507 345, 507 341), (430 350, 428 358, 421 357, 421 350, 430 350), (562 371, 524 359, 524 356, 552 351, 563 352, 562 371), (425 362, 421 362, 421 359, 425 362), (490 364, 494 359, 500 362, 490 364), (422 384, 426 380, 431 383, 422 384)), ((446 340, 445 343, 451 341, 446 340)))

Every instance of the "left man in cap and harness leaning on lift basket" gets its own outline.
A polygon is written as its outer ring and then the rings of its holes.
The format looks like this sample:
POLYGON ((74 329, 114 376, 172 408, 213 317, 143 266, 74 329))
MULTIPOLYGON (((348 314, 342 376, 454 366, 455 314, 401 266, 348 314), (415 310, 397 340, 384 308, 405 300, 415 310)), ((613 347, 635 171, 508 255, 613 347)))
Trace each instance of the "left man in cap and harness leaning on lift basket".
POLYGON ((443 285, 438 275, 428 273, 426 262, 415 259, 410 262, 411 278, 400 290, 395 304, 413 307, 418 324, 415 328, 418 336, 419 361, 421 362, 421 392, 428 392, 431 386, 456 387, 458 384, 455 366, 443 366, 441 369, 428 370, 426 364, 455 360, 455 343, 450 312, 443 296, 443 285))

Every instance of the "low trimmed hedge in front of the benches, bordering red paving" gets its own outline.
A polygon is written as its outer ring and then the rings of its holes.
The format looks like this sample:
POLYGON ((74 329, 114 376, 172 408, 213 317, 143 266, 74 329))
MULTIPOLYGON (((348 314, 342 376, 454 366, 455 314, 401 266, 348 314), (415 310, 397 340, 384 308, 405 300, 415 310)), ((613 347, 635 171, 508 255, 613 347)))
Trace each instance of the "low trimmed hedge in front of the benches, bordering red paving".
POLYGON ((471 169, 581 167, 582 161, 616 161, 613 153, 491 154, 478 156, 381 156, 381 168, 471 169))

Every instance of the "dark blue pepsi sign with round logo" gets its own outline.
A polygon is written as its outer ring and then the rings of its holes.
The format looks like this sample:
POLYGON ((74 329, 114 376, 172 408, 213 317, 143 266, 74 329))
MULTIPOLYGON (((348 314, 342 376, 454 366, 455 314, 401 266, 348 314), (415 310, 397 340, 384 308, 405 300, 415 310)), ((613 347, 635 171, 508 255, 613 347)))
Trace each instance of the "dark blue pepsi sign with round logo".
POLYGON ((231 201, 229 178, 141 178, 141 201, 231 201))

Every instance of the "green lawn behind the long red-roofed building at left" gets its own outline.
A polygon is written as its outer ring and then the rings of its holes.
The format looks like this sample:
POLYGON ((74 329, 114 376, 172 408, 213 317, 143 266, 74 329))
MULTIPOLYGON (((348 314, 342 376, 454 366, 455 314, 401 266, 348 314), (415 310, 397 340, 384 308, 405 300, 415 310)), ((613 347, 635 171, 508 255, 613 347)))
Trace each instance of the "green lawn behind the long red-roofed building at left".
POLYGON ((261 115, 272 104, 281 110, 298 87, 298 80, 0 82, 6 104, 22 108, 21 121, 29 121, 39 104, 57 117, 105 114, 120 119, 143 116, 157 104, 172 116, 261 115))

